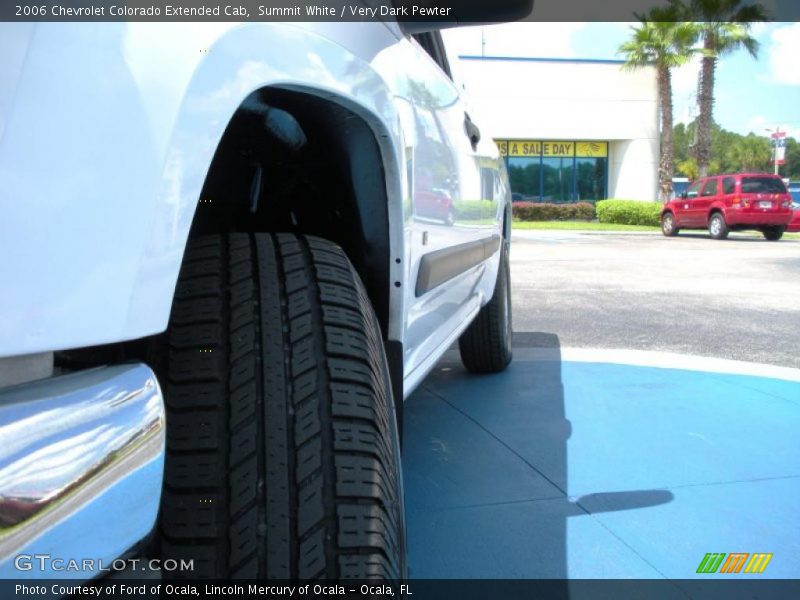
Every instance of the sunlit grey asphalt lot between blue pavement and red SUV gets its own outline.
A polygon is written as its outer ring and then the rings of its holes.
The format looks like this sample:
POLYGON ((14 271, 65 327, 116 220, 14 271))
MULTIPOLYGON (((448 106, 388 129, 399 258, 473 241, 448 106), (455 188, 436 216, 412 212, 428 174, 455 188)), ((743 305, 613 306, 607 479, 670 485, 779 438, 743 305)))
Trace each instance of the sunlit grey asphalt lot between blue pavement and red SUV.
POLYGON ((515 231, 514 331, 800 367, 800 240, 515 231))

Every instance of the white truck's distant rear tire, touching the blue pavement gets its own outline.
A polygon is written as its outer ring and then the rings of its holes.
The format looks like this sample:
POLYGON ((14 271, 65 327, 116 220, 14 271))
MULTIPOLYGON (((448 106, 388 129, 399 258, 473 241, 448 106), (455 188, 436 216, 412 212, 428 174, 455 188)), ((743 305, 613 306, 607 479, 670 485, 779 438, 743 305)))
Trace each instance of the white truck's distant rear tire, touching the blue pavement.
POLYGON ((492 299, 458 340, 461 362, 472 373, 504 371, 512 358, 511 341, 511 274, 504 241, 492 299))

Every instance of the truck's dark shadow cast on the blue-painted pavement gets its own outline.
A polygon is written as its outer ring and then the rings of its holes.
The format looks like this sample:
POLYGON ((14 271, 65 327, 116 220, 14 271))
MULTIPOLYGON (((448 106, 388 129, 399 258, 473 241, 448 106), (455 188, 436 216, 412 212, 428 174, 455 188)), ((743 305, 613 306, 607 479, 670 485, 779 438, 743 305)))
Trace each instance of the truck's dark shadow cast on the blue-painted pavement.
MULTIPOLYGON (((673 499, 663 490, 598 490, 570 498, 572 431, 560 342, 556 335, 531 332, 515 334, 515 347, 520 345, 541 349, 540 358, 483 376, 469 374, 451 350, 406 401, 403 461, 413 578, 566 579, 570 517, 589 519, 582 527, 596 530, 588 536, 595 542, 581 542, 581 560, 600 563, 597 577, 620 577, 619 562, 629 550, 618 540, 616 550, 601 543, 611 536, 590 515, 673 499), (617 564, 606 570, 606 561, 617 564)), ((643 570, 628 576, 652 575, 643 570)), ((561 597, 567 595, 565 583, 561 597)))

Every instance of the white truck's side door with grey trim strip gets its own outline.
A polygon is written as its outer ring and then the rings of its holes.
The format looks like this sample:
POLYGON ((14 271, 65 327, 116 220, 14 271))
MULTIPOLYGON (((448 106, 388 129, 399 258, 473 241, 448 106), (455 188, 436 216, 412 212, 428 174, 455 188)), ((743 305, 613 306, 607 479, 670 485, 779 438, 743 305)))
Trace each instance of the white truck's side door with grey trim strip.
MULTIPOLYGON (((412 218, 407 225, 406 374, 474 314, 480 266, 501 235, 500 157, 467 112, 438 32, 409 38, 406 99, 413 121, 412 218)), ((405 104, 401 102, 401 105, 405 104)))

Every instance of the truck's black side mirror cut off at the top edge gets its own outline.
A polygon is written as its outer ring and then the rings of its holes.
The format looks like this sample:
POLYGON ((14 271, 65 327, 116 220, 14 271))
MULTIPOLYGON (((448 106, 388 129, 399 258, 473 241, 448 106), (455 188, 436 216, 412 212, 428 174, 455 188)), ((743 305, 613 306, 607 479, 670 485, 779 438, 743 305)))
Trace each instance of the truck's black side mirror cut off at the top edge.
POLYGON ((534 0, 461 0, 441 6, 436 0, 392 0, 397 22, 406 33, 450 27, 519 21, 531 14, 534 0))

